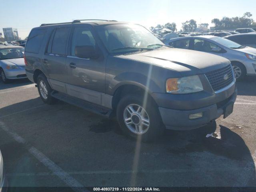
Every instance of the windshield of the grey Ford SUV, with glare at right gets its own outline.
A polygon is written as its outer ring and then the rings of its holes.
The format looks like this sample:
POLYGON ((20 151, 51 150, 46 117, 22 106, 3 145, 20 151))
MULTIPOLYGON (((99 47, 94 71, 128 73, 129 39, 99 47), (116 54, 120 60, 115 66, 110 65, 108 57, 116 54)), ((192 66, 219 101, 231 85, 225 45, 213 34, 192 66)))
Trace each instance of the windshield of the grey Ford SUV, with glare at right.
POLYGON ((96 26, 100 39, 110 53, 154 50, 165 45, 146 28, 135 24, 96 26))

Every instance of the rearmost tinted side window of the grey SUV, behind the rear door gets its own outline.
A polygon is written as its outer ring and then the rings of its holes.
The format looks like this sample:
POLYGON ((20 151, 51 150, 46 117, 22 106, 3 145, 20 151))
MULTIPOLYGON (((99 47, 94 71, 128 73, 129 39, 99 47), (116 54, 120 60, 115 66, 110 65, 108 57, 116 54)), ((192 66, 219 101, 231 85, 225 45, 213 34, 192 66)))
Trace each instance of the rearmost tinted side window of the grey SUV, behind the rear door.
POLYGON ((39 53, 46 30, 34 29, 31 31, 26 44, 26 52, 39 53))

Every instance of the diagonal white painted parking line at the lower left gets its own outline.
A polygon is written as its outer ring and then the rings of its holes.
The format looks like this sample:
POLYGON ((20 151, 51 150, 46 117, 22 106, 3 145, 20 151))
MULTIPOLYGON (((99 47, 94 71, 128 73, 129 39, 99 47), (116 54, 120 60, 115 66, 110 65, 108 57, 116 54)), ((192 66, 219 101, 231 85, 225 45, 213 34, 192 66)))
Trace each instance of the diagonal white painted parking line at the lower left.
MULTIPOLYGON (((12 132, 4 122, 0 121, 0 127, 6 131, 14 140, 19 143, 25 144, 26 140, 12 132)), ((38 161, 40 161, 44 166, 46 166, 49 170, 51 170, 56 176, 58 176, 64 183, 66 183, 70 188, 72 188, 76 192, 88 192, 88 190, 84 189, 84 186, 80 184, 76 179, 71 177, 67 172, 65 172, 62 168, 56 165, 52 160, 46 157, 42 152, 37 150, 35 147, 30 147, 27 149, 30 154, 32 154, 38 161)))

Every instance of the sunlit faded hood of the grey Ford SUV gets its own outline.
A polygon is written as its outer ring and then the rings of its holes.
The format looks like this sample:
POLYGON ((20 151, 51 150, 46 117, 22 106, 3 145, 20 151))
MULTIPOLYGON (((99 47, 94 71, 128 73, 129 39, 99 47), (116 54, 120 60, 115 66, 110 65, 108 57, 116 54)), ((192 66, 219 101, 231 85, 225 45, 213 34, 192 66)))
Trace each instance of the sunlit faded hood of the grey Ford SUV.
POLYGON ((175 70, 181 74, 184 73, 187 76, 203 74, 230 64, 228 59, 221 56, 178 48, 153 50, 139 54, 121 55, 119 57, 148 62, 175 70))

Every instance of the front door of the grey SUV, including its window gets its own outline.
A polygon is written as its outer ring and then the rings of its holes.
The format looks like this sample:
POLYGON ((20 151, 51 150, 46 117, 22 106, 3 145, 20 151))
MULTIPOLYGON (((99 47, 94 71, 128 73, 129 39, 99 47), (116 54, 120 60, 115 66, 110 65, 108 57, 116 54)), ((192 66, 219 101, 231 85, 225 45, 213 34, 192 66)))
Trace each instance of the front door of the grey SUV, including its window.
POLYGON ((70 51, 66 58, 68 74, 67 91, 71 96, 101 104, 105 82, 105 60, 79 58, 76 46, 94 46, 96 41, 89 26, 75 26, 72 29, 70 51))

